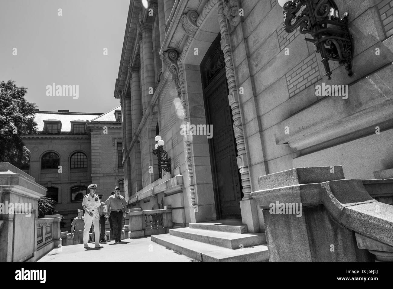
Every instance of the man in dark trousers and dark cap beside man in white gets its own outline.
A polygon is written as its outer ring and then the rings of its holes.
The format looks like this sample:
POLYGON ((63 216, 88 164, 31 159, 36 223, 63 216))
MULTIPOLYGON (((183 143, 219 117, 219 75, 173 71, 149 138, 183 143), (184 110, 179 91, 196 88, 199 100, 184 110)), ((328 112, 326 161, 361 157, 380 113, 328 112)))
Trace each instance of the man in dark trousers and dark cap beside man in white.
MULTIPOLYGON (((112 217, 113 234, 115 236, 115 243, 120 242, 121 238, 121 224, 126 214, 127 203, 123 196, 120 195, 120 188, 115 188, 114 195, 111 195, 105 204, 108 206, 108 213, 112 217)), ((106 217, 108 217, 108 213, 106 217)))

